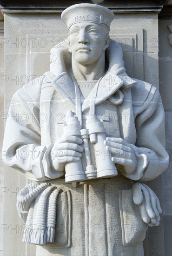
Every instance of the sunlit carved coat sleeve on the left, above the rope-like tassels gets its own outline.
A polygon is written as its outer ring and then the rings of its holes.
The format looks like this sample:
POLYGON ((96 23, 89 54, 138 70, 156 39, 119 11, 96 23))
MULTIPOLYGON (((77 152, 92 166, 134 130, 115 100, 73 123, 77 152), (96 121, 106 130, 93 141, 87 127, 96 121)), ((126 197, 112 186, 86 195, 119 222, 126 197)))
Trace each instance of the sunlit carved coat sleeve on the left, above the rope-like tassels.
MULTIPOLYGON (((35 81, 34 90, 36 84, 35 81)), ((27 85, 29 86, 32 87, 31 84, 27 85)), ((64 173, 57 172, 51 167, 49 154, 53 145, 41 146, 40 108, 36 100, 30 97, 26 87, 13 95, 1 157, 5 164, 19 170, 28 178, 45 181, 59 178, 64 173)))

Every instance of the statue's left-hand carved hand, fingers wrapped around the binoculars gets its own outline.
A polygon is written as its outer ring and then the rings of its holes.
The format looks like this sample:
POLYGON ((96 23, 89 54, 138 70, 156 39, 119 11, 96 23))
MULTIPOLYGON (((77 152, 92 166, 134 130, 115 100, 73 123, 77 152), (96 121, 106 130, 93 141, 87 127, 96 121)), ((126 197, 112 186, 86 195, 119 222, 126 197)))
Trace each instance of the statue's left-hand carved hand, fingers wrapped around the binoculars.
POLYGON ((82 140, 73 135, 63 135, 55 141, 51 151, 52 165, 57 171, 64 171, 67 162, 79 161, 83 148, 82 140))

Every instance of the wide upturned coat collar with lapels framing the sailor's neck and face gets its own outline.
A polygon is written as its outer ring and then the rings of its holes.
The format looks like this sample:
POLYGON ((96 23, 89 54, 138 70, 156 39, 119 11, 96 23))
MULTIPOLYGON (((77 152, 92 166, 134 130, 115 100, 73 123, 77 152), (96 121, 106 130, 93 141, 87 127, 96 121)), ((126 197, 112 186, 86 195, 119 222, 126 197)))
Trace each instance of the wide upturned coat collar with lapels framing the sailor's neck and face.
MULTIPOLYGON (((70 103, 75 105, 75 86, 74 78, 69 72, 71 67, 71 54, 68 52, 67 40, 56 45, 51 49, 50 71, 55 76, 53 86, 70 103), (63 46, 63 47, 62 47, 63 46)), ((123 101, 123 94, 119 88, 131 88, 137 83, 126 74, 123 62, 122 48, 114 40, 110 40, 110 46, 106 49, 106 62, 108 70, 99 80, 99 86, 95 86, 82 104, 82 111, 90 106, 91 98, 95 96, 95 105, 109 99, 114 104, 120 104, 123 101), (97 92, 96 92, 97 91, 97 92), (95 93, 96 92, 96 93, 95 93), (116 94, 115 94, 116 93, 116 94), (113 97, 112 95, 115 94, 113 97)))

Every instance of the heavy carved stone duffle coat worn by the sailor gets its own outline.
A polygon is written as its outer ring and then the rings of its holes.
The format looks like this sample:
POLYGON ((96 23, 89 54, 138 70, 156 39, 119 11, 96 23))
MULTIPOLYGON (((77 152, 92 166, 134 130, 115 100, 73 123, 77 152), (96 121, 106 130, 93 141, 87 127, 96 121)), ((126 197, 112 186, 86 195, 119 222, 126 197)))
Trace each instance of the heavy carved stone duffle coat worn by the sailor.
MULTIPOLYGON (((82 99, 83 128, 92 94, 82 99)), ((67 199, 61 194, 56 241, 38 246, 37 255, 143 255, 147 227, 132 201, 132 183, 152 180, 168 165, 159 91, 144 81, 127 77, 125 82, 106 73, 97 91, 95 114, 103 121, 107 136, 123 138, 137 151, 138 167, 134 174, 126 175, 118 165, 115 177, 83 181, 73 187, 65 183, 65 170, 51 167, 49 154, 63 135, 67 110, 76 114, 75 98, 66 72, 55 80, 53 73, 47 72, 20 88, 9 109, 4 162, 31 180, 51 180, 70 192, 67 199), (124 98, 117 104, 119 90, 124 98)))

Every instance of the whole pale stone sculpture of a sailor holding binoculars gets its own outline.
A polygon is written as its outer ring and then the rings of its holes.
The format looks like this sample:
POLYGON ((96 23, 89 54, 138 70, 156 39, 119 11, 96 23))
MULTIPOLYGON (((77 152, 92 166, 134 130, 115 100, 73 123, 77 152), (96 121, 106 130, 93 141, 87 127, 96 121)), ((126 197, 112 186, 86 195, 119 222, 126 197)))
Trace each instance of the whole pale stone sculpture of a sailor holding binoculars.
POLYGON ((68 39, 51 50, 46 84, 35 79, 13 95, 9 111, 29 119, 5 131, 4 162, 35 181, 18 198, 23 241, 38 244, 37 255, 143 255, 161 209, 141 182, 168 165, 159 92, 126 74, 109 39, 112 11, 77 4, 61 18, 68 39))

